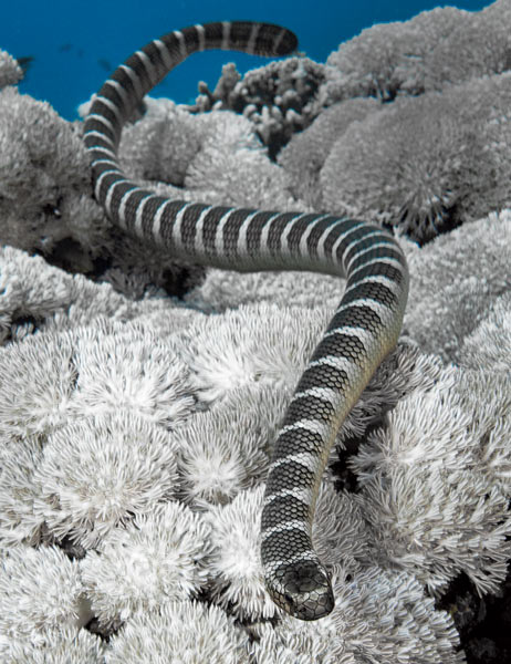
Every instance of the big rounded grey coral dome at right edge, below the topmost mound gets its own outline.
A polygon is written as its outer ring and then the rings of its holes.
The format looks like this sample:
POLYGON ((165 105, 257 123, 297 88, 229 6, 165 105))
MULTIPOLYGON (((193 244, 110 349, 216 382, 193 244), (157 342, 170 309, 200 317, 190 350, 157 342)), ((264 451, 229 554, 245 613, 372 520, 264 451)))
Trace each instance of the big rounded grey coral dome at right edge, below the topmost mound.
POLYGON ((510 85, 509 74, 478 80, 401 98, 352 124, 321 172, 323 205, 419 241, 504 207, 510 125, 497 108, 507 106, 510 85))

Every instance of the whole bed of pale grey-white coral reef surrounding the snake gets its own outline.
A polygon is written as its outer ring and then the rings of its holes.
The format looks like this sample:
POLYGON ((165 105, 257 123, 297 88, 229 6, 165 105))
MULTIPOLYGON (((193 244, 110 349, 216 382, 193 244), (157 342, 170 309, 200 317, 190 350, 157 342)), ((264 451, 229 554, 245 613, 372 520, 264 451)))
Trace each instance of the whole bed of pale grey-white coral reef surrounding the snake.
POLYGON ((336 605, 315 623, 270 601, 259 516, 344 283, 205 273, 123 237, 81 123, 20 95, 0 52, 2 662, 509 660, 483 616, 509 630, 510 20, 503 0, 437 9, 326 65, 227 66, 195 113, 148 98, 123 134, 123 166, 160 194, 400 236, 403 335, 319 497, 336 605))

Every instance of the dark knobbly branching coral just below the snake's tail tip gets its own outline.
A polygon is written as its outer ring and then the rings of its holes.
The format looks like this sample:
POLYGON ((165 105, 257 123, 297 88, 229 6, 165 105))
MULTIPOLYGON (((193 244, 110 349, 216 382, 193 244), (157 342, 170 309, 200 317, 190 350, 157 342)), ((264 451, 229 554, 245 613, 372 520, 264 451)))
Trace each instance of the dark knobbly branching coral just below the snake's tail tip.
POLYGON ((274 158, 295 132, 307 127, 320 112, 316 92, 324 66, 309 58, 288 58, 248 72, 242 79, 233 64, 222 69, 213 92, 201 83, 190 111, 231 110, 255 126, 274 158))

